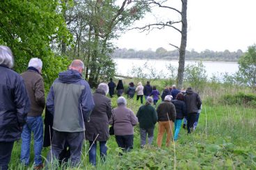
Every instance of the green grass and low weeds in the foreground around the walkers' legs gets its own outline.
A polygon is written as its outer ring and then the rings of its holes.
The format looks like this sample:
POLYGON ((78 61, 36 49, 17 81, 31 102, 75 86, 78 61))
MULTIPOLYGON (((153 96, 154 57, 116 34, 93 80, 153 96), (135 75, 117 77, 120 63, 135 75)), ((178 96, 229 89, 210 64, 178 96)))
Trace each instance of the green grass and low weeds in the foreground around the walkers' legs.
MULTIPOLYGON (((205 95, 204 101, 207 101, 207 97, 205 95)), ((113 107, 116 107, 116 99, 112 99, 113 107)), ((141 149, 139 128, 136 126, 134 149, 131 152, 119 156, 120 148, 115 137, 111 136, 107 142, 106 162, 102 164, 97 157, 97 167, 93 167, 88 162, 86 153, 89 144, 86 142, 79 169, 256 169, 255 108, 219 105, 216 99, 212 103, 204 104, 204 101, 197 129, 191 135, 182 129, 175 148, 173 144, 168 148, 157 147, 156 125, 153 146, 141 149)), ((127 107, 135 114, 139 106, 140 102, 135 97, 134 100, 127 100, 127 107)), ((163 145, 164 142, 165 138, 163 145)), ((20 141, 15 142, 10 169, 27 169, 19 164, 20 144, 20 141)), ((44 158, 48 151, 49 148, 43 149, 44 158)), ((33 151, 29 169, 33 169, 33 151)))

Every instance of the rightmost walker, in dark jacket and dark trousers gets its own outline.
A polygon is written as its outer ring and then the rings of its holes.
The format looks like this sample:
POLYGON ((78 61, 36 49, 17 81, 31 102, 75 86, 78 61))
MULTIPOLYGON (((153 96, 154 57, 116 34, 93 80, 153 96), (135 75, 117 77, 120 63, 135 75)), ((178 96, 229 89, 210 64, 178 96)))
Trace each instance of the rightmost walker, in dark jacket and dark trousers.
POLYGON ((186 94, 184 95, 184 102, 186 103, 186 110, 188 112, 188 117, 187 117, 188 133, 191 133, 196 121, 198 110, 202 105, 202 101, 200 99, 200 96, 197 93, 193 92, 191 87, 188 87, 186 90, 186 94))

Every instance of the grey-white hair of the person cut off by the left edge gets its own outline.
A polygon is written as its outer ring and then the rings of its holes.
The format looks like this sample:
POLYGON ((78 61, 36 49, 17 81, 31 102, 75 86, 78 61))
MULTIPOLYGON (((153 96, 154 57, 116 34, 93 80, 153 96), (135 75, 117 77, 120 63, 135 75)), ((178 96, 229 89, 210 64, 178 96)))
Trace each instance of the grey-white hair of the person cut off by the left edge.
POLYGON ((0 64, 13 68, 13 53, 10 51, 8 46, 0 46, 0 64))

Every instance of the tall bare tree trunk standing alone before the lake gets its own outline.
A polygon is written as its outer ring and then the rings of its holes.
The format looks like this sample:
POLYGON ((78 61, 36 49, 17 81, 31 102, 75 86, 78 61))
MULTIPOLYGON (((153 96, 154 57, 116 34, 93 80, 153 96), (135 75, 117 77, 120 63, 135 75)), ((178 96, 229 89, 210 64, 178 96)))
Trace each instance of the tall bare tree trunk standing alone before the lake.
POLYGON ((187 9, 187 0, 182 0, 182 40, 180 42, 179 48, 179 67, 177 74, 177 87, 179 89, 183 86, 184 78, 184 68, 185 68, 185 56, 186 56, 186 38, 187 38, 187 20, 186 20, 186 9, 187 9))

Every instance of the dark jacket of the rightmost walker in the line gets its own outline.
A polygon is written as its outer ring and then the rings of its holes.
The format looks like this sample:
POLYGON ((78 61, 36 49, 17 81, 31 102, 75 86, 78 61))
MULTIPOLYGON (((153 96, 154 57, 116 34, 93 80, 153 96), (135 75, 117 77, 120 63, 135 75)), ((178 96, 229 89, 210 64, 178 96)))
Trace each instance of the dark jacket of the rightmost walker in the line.
POLYGON ((184 102, 186 103, 186 110, 188 113, 197 113, 202 105, 200 96, 193 92, 193 90, 187 90, 184 95, 184 102))

